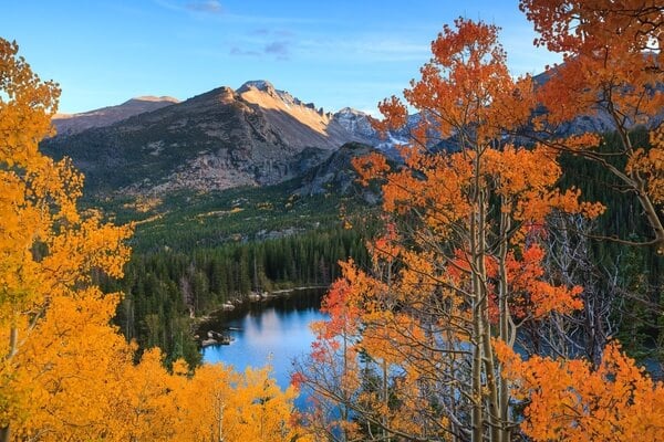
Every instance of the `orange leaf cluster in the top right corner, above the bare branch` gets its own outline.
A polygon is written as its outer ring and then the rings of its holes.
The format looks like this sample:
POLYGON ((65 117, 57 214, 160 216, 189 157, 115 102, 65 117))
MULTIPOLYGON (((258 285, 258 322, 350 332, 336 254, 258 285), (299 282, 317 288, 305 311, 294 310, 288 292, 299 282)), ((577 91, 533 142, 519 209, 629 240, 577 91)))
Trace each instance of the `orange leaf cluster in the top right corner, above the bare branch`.
MULTIPOLYGON (((522 0, 541 34, 537 44, 564 54, 564 64, 538 96, 559 124, 599 107, 618 126, 644 124, 664 103, 661 81, 661 7, 653 0, 522 0), (654 21, 653 21, 654 20, 654 21), (647 51, 647 52, 644 52, 647 51)), ((624 130, 624 127, 616 127, 624 130)))

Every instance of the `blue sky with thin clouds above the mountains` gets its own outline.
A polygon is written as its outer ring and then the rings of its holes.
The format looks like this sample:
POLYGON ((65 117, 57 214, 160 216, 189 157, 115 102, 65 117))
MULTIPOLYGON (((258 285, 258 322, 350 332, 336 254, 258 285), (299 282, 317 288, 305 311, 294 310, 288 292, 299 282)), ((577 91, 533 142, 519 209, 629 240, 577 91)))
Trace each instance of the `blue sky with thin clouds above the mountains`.
POLYGON ((515 75, 558 59, 535 49, 518 0, 9 0, 0 36, 62 87, 60 110, 138 95, 185 99, 269 80, 325 110, 375 112, 401 95, 459 15, 502 28, 515 75), (9 3, 9 4, 8 4, 9 3))

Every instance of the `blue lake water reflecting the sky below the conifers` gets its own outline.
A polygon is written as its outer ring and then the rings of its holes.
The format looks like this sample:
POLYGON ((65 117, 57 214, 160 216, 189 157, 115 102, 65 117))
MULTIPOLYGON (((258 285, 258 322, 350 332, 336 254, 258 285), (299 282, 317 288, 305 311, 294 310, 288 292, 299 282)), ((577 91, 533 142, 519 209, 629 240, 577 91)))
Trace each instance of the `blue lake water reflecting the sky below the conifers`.
POLYGON ((309 324, 326 318, 320 312, 323 293, 323 290, 295 291, 288 296, 253 303, 249 311, 239 307, 219 313, 199 329, 201 336, 209 329, 221 332, 234 327, 240 330, 229 332, 235 338, 230 345, 205 347, 203 361, 232 365, 237 371, 270 364, 279 386, 288 387, 292 359, 311 350, 314 336, 309 324))

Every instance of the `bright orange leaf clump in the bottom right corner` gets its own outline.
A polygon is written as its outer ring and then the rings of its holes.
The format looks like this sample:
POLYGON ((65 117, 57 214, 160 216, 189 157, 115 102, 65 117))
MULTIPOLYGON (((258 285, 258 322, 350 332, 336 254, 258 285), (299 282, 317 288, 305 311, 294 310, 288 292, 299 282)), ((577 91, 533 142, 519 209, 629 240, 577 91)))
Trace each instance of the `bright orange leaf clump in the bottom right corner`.
POLYGON ((522 431, 535 441, 660 441, 664 386, 610 344, 596 369, 585 360, 528 360, 495 343, 504 376, 528 399, 522 431))

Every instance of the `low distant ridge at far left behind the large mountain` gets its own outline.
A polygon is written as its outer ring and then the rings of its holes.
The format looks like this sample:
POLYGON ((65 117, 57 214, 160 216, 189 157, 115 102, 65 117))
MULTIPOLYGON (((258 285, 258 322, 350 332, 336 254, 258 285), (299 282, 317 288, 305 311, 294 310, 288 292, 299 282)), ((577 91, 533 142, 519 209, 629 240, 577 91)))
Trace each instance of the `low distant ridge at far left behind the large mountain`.
POLYGON ((53 117, 53 125, 59 135, 72 135, 93 127, 111 126, 131 116, 156 110, 174 103, 179 103, 179 101, 169 96, 139 96, 117 106, 102 107, 80 114, 56 114, 53 117))

